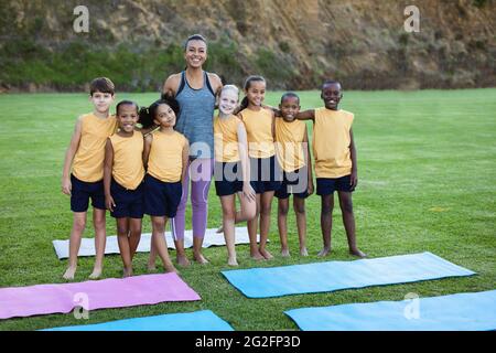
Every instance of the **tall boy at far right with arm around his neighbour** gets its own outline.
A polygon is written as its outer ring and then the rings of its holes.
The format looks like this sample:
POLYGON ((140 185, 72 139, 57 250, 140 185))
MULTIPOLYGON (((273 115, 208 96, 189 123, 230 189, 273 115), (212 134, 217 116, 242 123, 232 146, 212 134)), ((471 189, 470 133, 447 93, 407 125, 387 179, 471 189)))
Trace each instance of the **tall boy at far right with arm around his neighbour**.
POLYGON ((334 191, 337 191, 343 223, 348 239, 349 253, 358 257, 366 255, 358 249, 355 234, 352 192, 357 176, 356 148, 353 140, 352 124, 354 115, 338 109, 343 97, 341 84, 326 81, 322 85, 321 98, 325 107, 298 114, 300 120, 313 120, 313 157, 315 159, 316 194, 321 196, 321 225, 324 247, 319 253, 331 253, 332 212, 334 191))

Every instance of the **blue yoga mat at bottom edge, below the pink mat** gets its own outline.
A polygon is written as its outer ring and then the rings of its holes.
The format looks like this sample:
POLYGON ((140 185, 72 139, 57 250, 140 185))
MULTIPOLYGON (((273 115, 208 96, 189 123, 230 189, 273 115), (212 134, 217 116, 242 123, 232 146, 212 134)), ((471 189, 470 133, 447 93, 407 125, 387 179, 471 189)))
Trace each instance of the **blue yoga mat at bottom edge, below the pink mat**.
POLYGON ((202 310, 42 331, 234 331, 234 329, 211 310, 202 310))

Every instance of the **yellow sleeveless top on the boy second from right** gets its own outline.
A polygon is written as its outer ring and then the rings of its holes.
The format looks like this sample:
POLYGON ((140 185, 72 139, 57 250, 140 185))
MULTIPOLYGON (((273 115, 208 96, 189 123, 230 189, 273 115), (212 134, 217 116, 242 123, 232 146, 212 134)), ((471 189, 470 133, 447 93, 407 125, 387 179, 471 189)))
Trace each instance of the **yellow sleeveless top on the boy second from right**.
POLYGON ((306 125, 301 120, 292 122, 276 118, 276 156, 279 165, 290 173, 305 165, 303 139, 306 125))

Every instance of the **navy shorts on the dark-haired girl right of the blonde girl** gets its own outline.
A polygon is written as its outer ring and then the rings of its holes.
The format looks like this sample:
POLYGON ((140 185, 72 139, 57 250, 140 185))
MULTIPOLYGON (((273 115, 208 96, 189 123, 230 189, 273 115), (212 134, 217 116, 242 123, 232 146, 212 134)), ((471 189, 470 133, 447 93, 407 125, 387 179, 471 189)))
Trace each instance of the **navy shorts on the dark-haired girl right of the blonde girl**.
POLYGON ((276 191, 281 188, 282 171, 276 162, 276 156, 250 158, 250 183, 257 194, 276 191))

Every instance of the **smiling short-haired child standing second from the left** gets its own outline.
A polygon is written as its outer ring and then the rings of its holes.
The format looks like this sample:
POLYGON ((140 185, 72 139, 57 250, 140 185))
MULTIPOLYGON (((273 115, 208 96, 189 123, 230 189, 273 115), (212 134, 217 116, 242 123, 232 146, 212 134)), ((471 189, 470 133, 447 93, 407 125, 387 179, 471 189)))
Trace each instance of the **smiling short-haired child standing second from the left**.
POLYGON ((139 119, 136 103, 120 101, 116 115, 118 131, 108 138, 105 146, 105 204, 117 222, 123 277, 130 277, 143 218, 143 136, 134 130, 139 119))

